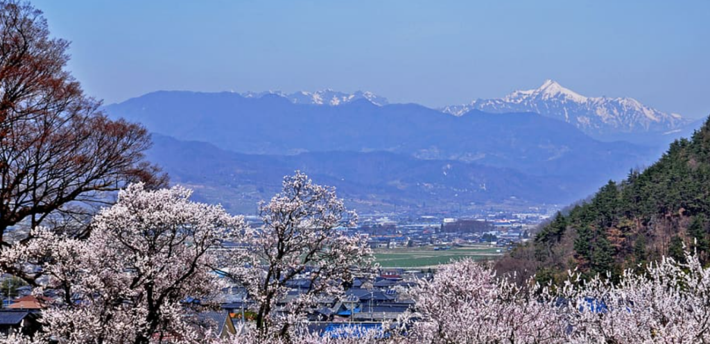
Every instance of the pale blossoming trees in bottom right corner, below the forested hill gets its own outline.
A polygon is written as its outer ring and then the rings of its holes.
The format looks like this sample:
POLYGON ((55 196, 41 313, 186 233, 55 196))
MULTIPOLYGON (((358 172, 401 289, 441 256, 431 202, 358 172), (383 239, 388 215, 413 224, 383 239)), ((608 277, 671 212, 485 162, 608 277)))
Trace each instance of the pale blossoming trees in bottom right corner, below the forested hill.
POLYGON ((709 343, 710 269, 694 254, 664 258, 621 281, 604 276, 564 287, 571 343, 709 343))

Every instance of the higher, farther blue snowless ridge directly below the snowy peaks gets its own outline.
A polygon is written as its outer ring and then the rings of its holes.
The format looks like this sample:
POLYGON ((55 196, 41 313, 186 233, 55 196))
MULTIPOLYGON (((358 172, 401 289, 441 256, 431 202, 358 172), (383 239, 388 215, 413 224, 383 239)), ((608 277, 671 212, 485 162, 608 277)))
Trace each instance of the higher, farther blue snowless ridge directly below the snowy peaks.
MULTIPOLYGON (((565 176, 587 186, 621 178, 655 154, 624 142, 596 141, 570 124, 529 113, 454 117, 416 104, 356 100, 330 107, 229 92, 154 92, 106 110, 158 134, 244 154, 389 151, 565 176)), ((583 196, 592 190, 577 191, 583 196)))

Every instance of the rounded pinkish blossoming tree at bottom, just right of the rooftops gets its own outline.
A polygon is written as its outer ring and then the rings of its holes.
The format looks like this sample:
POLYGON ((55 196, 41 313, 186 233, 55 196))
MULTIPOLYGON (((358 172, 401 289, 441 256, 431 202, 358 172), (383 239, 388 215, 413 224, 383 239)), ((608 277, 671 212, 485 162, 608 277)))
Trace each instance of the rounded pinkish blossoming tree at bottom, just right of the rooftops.
POLYGON ((564 318, 546 288, 496 279, 472 259, 440 267, 410 294, 417 343, 562 343, 564 318), (537 291, 535 293, 534 291, 537 291))

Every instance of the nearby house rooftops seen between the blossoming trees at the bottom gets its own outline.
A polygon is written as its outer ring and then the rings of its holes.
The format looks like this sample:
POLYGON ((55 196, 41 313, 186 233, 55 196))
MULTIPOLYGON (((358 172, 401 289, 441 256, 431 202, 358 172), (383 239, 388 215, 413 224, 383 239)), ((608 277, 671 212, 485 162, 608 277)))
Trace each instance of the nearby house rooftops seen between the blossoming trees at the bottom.
MULTIPOLYGON (((320 335, 339 333, 343 326, 381 328, 383 323, 395 321, 413 308, 414 301, 406 291, 420 279, 429 278, 430 273, 403 269, 381 269, 373 276, 359 274, 344 294, 320 297, 317 307, 308 314, 307 322, 300 325, 320 335)), ((288 294, 278 300, 276 311, 285 310, 290 301, 305 293, 310 281, 293 279, 287 286, 288 294)), ((0 309, 0 333, 9 334, 17 330, 34 333, 39 328, 40 311, 52 300, 31 295, 30 286, 13 289, 13 294, 16 296, 7 299, 4 308, 0 309)), ((244 328, 241 322, 246 322, 247 328, 250 323, 253 326, 254 303, 244 287, 234 285, 223 289, 219 300, 219 310, 197 313, 195 325, 199 330, 207 329, 220 338, 228 338, 244 328)))

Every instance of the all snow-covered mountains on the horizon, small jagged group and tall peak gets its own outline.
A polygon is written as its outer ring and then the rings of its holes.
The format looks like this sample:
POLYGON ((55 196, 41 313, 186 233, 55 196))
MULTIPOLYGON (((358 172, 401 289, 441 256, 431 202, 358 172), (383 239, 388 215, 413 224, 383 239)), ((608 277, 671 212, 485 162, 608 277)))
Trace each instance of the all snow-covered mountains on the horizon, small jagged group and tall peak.
MULTIPOLYGON (((278 96, 293 104, 338 106, 366 100, 382 106, 390 104, 386 97, 373 92, 354 93, 334 90, 315 92, 280 91, 244 92, 241 96, 259 98, 278 96)), ((674 139, 692 134, 699 121, 680 114, 662 112, 630 97, 586 97, 569 90, 554 80, 545 80, 533 90, 518 90, 503 98, 477 99, 469 104, 439 108, 447 114, 461 116, 471 110, 489 113, 534 112, 573 124, 584 133, 602 141, 630 141, 638 144, 666 146, 674 139)))

